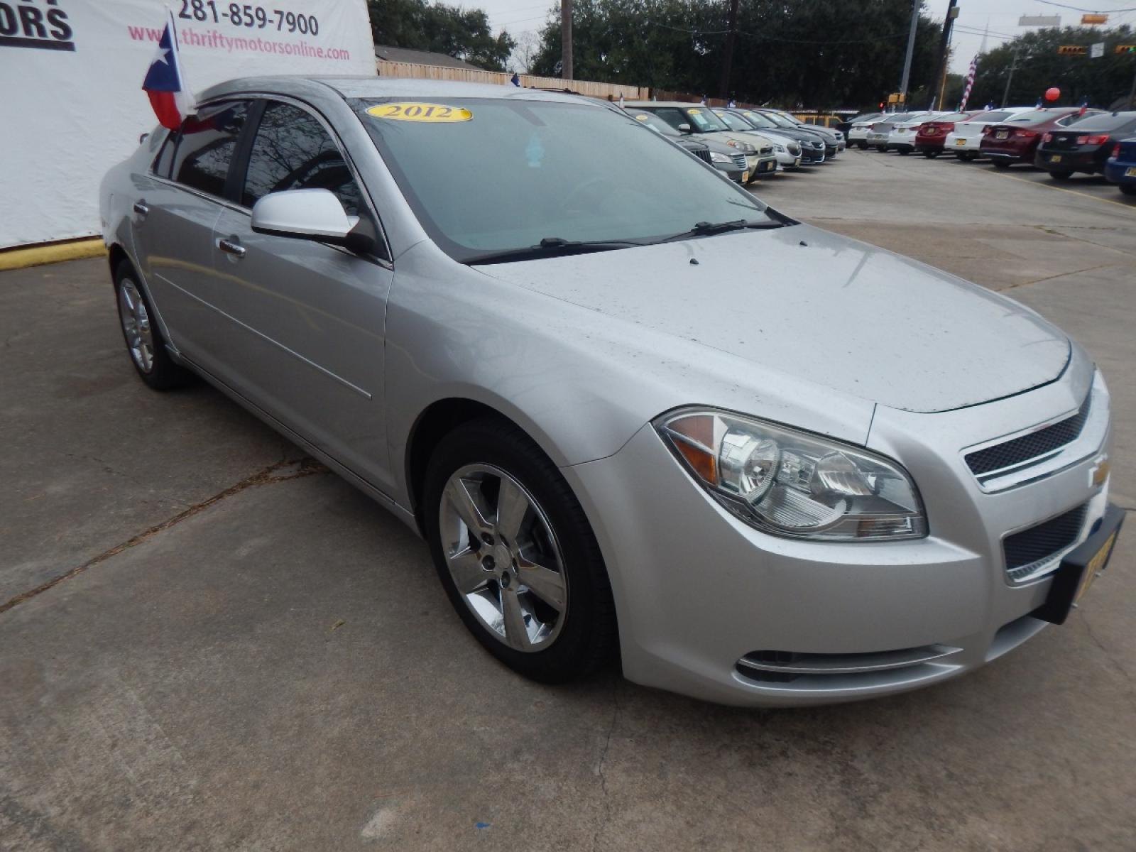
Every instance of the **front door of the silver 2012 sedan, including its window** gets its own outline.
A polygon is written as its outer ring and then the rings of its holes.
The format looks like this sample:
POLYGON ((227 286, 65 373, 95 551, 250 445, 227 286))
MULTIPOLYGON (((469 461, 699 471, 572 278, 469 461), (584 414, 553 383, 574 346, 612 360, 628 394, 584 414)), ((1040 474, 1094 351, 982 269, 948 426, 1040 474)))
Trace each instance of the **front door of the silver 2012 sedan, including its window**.
POLYGON ((254 233, 251 210, 268 193, 316 187, 332 191, 349 215, 371 218, 376 232, 378 217, 318 112, 291 100, 262 103, 234 203, 212 231, 215 304, 225 316, 217 357, 242 394, 383 487, 390 482, 383 361, 391 264, 254 233))

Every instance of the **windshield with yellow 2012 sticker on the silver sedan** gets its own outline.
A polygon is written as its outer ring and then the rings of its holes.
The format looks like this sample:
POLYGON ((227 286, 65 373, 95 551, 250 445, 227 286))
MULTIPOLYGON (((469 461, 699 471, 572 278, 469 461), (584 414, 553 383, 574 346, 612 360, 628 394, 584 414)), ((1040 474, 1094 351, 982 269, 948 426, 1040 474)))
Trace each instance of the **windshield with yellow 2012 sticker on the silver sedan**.
POLYGON ((650 243, 699 223, 784 223, 640 122, 591 103, 350 102, 423 227, 461 262, 557 241, 650 243))

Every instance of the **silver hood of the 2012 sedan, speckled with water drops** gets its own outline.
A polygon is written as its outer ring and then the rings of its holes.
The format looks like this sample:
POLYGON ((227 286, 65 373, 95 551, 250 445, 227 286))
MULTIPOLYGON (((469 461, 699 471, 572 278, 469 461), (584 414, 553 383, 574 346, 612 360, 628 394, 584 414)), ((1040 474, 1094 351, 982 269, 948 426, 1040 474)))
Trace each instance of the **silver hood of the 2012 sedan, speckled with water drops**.
POLYGON ((1020 393, 1070 357, 1069 339, 1017 302, 809 225, 478 269, 909 411, 1020 393))

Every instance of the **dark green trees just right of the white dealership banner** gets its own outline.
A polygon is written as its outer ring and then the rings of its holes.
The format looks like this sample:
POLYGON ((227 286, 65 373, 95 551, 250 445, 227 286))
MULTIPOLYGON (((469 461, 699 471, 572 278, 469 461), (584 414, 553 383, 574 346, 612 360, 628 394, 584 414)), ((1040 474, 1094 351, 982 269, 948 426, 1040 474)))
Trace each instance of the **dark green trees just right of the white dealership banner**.
POLYGON ((504 70, 516 42, 507 31, 493 35, 484 9, 462 9, 426 0, 368 0, 376 44, 432 50, 487 70, 504 70))

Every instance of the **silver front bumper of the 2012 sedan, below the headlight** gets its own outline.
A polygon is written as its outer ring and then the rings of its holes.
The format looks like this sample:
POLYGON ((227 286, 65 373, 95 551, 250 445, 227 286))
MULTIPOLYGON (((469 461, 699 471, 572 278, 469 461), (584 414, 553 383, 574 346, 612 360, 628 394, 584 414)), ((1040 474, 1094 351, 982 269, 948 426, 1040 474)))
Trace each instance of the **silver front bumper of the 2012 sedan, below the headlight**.
POLYGON ((1109 449, 1106 418, 1097 451, 1000 493, 979 488, 960 448, 1036 423, 1038 411, 1076 408, 1084 384, 935 415, 879 409, 868 444, 903 460, 922 488, 932 534, 917 541, 766 535, 696 485, 651 425, 615 456, 565 468, 608 563, 625 675, 720 703, 801 705, 929 685, 1021 644, 1045 626, 1029 613, 1052 577, 1012 585, 1002 537, 1080 504, 1078 541, 1088 536, 1108 503, 1108 481, 1092 482, 1109 449), (738 665, 760 666, 762 653, 892 662, 785 682, 738 665))

